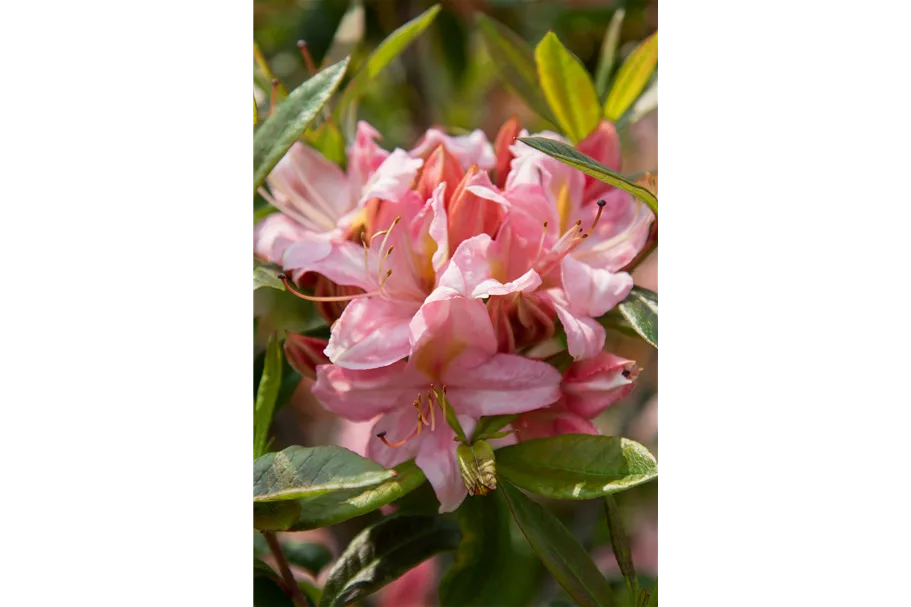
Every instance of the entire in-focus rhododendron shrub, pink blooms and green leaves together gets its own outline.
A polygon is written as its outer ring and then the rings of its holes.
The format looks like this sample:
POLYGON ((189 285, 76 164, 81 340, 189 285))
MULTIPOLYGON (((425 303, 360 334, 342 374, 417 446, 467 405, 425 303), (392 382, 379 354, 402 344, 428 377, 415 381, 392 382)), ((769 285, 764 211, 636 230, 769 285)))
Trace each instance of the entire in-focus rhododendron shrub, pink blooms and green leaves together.
MULTIPOLYGON (((479 24, 491 48, 518 44, 501 24, 479 24)), ((388 48, 370 69, 392 59, 388 48)), ((421 564, 451 550, 441 604, 502 604, 484 580, 510 559, 510 520, 574 600, 611 600, 581 545, 526 492, 602 499, 616 525, 612 494, 657 477, 646 447, 596 423, 645 372, 606 349, 608 333, 657 344, 656 295, 631 274, 655 244, 656 188, 650 175, 623 176, 617 127, 657 47, 641 43, 604 104, 553 34, 521 57, 534 58, 555 130, 514 117, 492 139, 435 127, 388 149, 353 120, 370 76, 349 73, 347 58, 256 117, 253 185, 267 212, 252 231, 254 289, 317 319, 267 337, 253 408, 253 524, 278 565, 257 561, 255 577, 292 604, 349 604, 409 571, 424 584, 421 564), (272 450, 289 378, 342 423, 372 424, 364 444, 272 450), (370 513, 328 577, 295 578, 277 532, 370 513)), ((654 600, 631 565, 621 570, 637 604, 654 600)))

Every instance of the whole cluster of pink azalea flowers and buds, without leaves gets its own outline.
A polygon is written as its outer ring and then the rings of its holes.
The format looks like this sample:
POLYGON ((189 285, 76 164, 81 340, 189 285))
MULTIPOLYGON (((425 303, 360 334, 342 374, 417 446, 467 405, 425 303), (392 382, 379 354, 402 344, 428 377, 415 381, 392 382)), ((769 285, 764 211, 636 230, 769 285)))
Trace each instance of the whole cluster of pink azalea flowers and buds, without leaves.
MULTIPOLYGON (((633 286, 622 268, 653 216, 516 141, 525 135, 516 119, 493 145, 480 130, 430 129, 414 149, 389 152, 361 122, 345 171, 297 143, 261 190, 281 212, 257 225, 255 254, 312 289, 286 282, 333 323, 328 343, 289 335, 289 361, 328 410, 381 416, 367 455, 387 467, 415 458, 441 512, 466 495, 443 406, 469 437, 480 417, 500 414, 520 414, 518 440, 597 434, 590 420, 638 373, 602 351, 596 319, 633 286), (523 355, 558 319, 574 359, 562 374, 523 355)), ((577 149, 619 170, 609 122, 577 149)))

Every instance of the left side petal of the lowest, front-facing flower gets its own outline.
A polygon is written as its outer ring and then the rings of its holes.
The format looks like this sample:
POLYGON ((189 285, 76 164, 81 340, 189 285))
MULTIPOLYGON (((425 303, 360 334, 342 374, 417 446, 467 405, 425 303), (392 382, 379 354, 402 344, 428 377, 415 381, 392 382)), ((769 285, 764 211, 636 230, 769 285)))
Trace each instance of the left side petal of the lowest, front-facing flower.
POLYGON ((407 369, 404 362, 363 371, 320 365, 313 396, 329 411, 360 422, 395 407, 410 406, 427 384, 426 377, 407 369))

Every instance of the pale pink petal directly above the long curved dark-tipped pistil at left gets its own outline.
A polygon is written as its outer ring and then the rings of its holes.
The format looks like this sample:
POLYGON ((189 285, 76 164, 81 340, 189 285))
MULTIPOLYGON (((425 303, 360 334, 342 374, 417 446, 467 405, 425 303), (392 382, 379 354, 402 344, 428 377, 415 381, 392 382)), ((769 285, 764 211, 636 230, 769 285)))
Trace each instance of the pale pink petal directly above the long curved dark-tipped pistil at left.
POLYGON ((282 267, 319 272, 336 284, 360 287, 368 292, 379 286, 375 271, 368 271, 364 264, 363 247, 350 241, 293 244, 285 249, 282 267))

